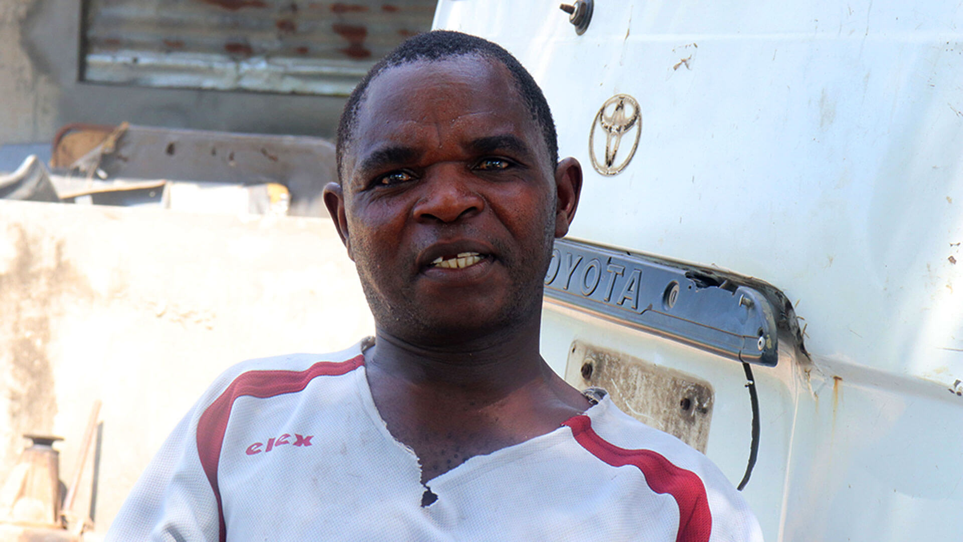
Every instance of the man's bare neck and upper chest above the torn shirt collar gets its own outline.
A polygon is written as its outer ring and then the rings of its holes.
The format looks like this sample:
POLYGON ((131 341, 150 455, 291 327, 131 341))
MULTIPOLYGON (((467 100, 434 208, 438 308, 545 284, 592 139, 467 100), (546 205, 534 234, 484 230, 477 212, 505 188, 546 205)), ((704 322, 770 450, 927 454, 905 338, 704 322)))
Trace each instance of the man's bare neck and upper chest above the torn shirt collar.
POLYGON ((549 433, 588 408, 541 359, 540 316, 505 333, 443 344, 376 328, 375 346, 365 352, 372 399, 392 436, 418 456, 423 483, 472 456, 549 433))

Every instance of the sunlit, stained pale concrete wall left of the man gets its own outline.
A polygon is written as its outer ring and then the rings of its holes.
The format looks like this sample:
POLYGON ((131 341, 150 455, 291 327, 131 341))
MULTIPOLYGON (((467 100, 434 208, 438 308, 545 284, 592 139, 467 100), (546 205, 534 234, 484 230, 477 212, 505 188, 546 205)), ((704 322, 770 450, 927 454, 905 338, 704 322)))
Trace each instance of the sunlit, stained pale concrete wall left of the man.
POLYGON ((101 399, 102 533, 224 368, 346 348, 373 329, 326 219, 0 201, 0 480, 34 432, 65 438, 69 483, 101 399))

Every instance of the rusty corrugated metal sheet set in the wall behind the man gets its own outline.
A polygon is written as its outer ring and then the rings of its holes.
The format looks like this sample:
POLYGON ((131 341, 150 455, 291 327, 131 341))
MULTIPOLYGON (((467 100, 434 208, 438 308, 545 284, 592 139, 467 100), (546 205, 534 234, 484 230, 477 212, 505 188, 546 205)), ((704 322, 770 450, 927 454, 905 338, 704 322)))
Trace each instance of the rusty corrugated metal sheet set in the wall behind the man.
POLYGON ((87 0, 84 80, 348 95, 434 0, 87 0))

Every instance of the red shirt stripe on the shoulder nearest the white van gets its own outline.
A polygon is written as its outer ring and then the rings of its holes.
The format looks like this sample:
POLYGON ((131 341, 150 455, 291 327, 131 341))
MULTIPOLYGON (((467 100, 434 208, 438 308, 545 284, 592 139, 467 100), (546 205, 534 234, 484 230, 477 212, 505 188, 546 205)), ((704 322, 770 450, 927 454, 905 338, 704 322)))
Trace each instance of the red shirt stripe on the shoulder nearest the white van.
POLYGON ((592 420, 585 415, 575 416, 562 425, 568 425, 582 447, 592 455, 612 465, 633 465, 645 475, 645 482, 652 491, 669 494, 679 506, 679 531, 676 542, 707 542, 713 531, 713 516, 702 479, 651 449, 626 449, 617 447, 598 436, 592 429, 592 420))

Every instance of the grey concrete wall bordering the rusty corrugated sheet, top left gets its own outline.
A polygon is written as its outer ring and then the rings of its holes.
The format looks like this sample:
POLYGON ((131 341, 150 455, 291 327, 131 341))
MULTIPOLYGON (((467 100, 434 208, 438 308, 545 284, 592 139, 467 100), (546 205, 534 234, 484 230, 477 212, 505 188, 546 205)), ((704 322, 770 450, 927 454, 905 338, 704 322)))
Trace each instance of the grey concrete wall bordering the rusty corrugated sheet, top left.
POLYGON ((334 135, 342 97, 78 82, 80 5, 0 1, 0 145, 48 142, 68 122, 334 135))

